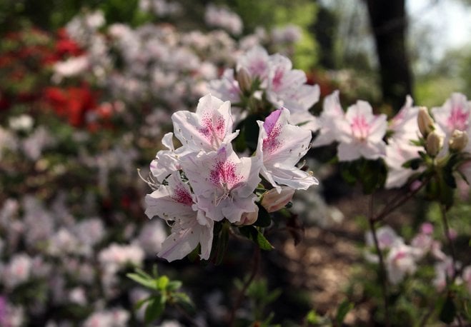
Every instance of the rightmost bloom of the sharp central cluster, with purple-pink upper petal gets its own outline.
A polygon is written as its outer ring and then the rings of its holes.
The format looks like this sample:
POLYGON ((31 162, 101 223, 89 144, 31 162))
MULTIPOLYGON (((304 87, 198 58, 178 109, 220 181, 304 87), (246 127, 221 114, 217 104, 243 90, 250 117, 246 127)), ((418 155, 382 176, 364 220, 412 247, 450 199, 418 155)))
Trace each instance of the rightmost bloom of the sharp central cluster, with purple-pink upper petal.
POLYGON ((295 189, 307 189, 319 182, 309 173, 295 166, 309 150, 311 132, 288 123, 289 111, 285 108, 273 111, 259 124, 257 157, 262 160, 260 173, 277 190, 279 184, 295 189))

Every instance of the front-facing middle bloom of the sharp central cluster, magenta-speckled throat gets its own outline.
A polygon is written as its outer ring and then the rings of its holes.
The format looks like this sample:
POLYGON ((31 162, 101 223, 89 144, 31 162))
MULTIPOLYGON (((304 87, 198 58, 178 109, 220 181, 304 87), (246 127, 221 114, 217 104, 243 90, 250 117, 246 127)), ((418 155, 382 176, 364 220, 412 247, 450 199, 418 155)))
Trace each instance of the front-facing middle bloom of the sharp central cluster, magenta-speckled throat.
POLYGON ((198 198, 198 208, 214 221, 227 218, 241 221, 243 213, 257 210, 253 193, 260 178, 257 157, 240 158, 231 144, 219 151, 188 154, 182 157, 182 167, 198 198))

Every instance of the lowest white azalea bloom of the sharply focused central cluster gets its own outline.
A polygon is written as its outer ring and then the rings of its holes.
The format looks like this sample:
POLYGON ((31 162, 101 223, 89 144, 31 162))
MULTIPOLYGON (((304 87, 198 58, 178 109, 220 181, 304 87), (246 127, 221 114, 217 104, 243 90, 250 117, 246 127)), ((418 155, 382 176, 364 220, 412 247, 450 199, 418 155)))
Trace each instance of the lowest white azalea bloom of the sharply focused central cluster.
POLYGON ((201 258, 207 260, 212 247, 213 221, 198 209, 189 185, 182 181, 178 172, 172 173, 167 183, 145 198, 147 216, 159 216, 172 225, 172 233, 157 255, 167 261, 178 260, 200 244, 201 258))

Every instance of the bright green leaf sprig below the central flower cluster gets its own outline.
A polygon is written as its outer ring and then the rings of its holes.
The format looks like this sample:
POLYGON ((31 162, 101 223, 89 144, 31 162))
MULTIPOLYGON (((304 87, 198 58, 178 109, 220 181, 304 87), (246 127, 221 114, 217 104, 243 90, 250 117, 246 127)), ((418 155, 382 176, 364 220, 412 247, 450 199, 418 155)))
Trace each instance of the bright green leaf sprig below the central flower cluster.
POLYGON ((187 294, 178 291, 182 287, 182 282, 171 281, 165 275, 159 276, 157 266, 154 266, 152 276, 140 268, 136 268, 135 273, 127 273, 126 276, 152 291, 151 296, 142 299, 135 305, 136 310, 146 305, 145 323, 152 323, 161 317, 167 304, 179 306, 189 313, 194 313, 192 300, 187 294))

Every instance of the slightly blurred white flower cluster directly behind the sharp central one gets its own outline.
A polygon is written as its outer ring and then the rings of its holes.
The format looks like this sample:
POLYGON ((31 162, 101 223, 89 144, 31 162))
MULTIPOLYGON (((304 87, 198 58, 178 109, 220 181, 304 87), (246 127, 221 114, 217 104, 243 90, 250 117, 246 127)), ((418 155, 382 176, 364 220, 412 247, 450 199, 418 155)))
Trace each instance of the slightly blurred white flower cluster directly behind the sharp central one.
MULTIPOLYGON (((212 94, 227 99, 239 110, 266 99, 272 106, 289 109, 290 122, 305 129, 316 129, 309 109, 319 100, 319 86, 306 84, 303 71, 292 69, 292 62, 281 54, 267 54, 254 46, 237 60, 236 69, 226 69, 222 78, 210 83, 212 94)), ((252 108, 252 110, 254 110, 252 108)), ((238 117, 247 115, 243 111, 238 117)))

